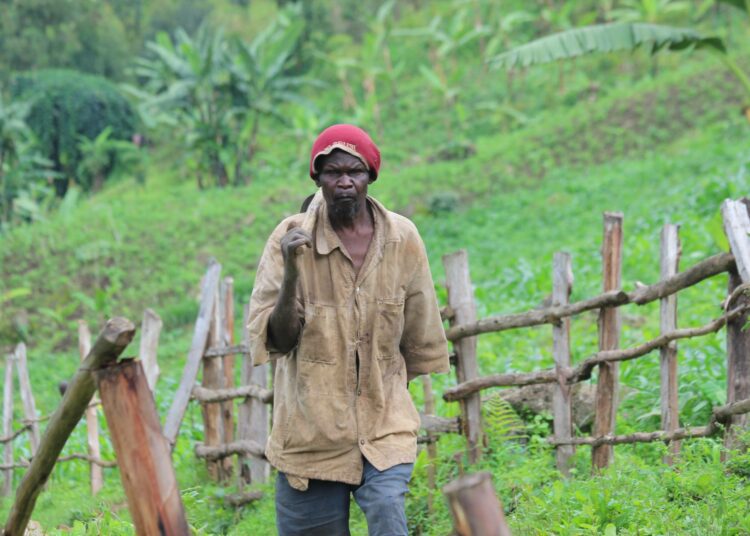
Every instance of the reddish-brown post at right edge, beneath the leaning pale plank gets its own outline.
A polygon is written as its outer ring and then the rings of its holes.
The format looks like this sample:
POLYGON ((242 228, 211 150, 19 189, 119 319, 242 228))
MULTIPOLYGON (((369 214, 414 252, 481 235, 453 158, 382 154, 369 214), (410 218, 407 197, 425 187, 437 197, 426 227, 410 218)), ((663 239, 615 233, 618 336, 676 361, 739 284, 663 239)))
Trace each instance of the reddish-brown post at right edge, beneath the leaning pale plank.
MULTIPOLYGON (((742 284, 736 271, 729 272, 729 294, 742 284)), ((740 296, 732 307, 750 301, 740 296)), ((743 330, 750 314, 744 313, 727 322, 727 404, 750 398, 750 331, 743 330)), ((734 415, 724 433, 724 446, 731 450, 740 446, 737 442, 738 428, 748 425, 748 415, 734 415)))

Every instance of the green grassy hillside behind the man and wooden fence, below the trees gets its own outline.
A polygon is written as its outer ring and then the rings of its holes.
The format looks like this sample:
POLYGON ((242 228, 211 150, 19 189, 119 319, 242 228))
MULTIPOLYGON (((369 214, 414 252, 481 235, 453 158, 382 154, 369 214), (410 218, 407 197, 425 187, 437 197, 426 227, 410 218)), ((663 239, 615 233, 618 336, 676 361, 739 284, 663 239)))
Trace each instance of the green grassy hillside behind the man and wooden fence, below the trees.
MULTIPOLYGON (((531 75, 533 78, 533 74, 531 75)), ((414 219, 426 242, 441 300, 441 255, 469 252, 479 315, 537 306, 551 291, 555 251, 573 254, 573 299, 600 288, 601 214, 625 214, 623 281, 658 277, 658 236, 666 222, 682 224, 682 266, 726 249, 718 216, 725 197, 747 193, 750 164, 747 123, 738 113, 738 91, 703 61, 687 63, 656 80, 610 91, 595 102, 581 99, 540 113, 523 127, 493 133, 485 117, 473 137, 475 154, 435 160, 443 133, 419 109, 404 110, 379 139, 384 169, 371 193, 414 219), (572 103, 571 103, 572 104, 572 103), (432 128, 431 128, 432 127, 432 128)), ((469 129, 470 130, 470 129, 469 129)), ((200 277, 210 257, 235 279, 236 301, 244 303, 266 237, 277 221, 298 210, 313 183, 305 173, 309 140, 290 155, 291 137, 264 133, 265 161, 244 188, 199 192, 177 171, 179 155, 160 148, 144 184, 122 181, 91 198, 66 198, 46 222, 0 236, 0 295, 9 289, 30 294, 7 304, 0 318, 3 344, 19 336, 30 346, 32 384, 42 413, 58 403, 57 382, 78 361, 76 323, 92 325, 114 314, 139 319, 144 308, 164 319, 159 360, 162 378, 157 405, 166 413, 189 347, 197 314, 200 277), (25 319, 28 319, 26 321, 25 319)), ((296 146, 295 146, 296 147, 296 146)), ((685 292, 680 325, 698 325, 719 314, 726 288, 715 278, 685 292)), ((656 307, 626 310, 623 345, 658 329, 656 307)), ((551 364, 548 328, 482 336, 483 373, 528 371, 551 364)), ((130 352, 137 348, 136 340, 130 352)), ((594 351, 592 315, 573 325, 573 358, 594 351)), ((126 352, 127 353, 127 352, 126 352)), ((724 402, 723 334, 680 344, 680 405, 685 424, 704 424, 710 407, 724 402)), ((618 431, 658 427, 658 358, 622 367, 627 386, 618 431)), ((440 392, 453 378, 436 378, 440 392)), ((413 395, 420 400, 420 389, 413 395)), ((439 413, 456 414, 439 403, 439 413)), ((106 427, 103 422, 102 426, 106 427)), ((190 522, 200 534, 269 534, 273 500, 240 511, 221 506, 223 488, 207 484, 192 447, 202 436, 200 411, 191 407, 175 451, 175 466, 190 522)), ((490 433, 481 467, 495 484, 518 534, 743 534, 750 531, 746 480, 750 460, 727 467, 712 441, 694 441, 678 471, 664 468, 661 445, 618 447, 616 465, 589 477, 589 452, 579 450, 577 475, 560 480, 553 454, 544 446, 548 421, 537 418, 519 445, 490 433), (609 528, 612 527, 612 528, 609 528)), ((106 436, 106 434, 105 434, 106 436)), ((17 452, 26 448, 18 443, 17 452)), ((439 444, 442 483, 455 477, 453 454, 460 438, 439 444)), ((76 430, 66 452, 85 449, 76 430)), ((111 458, 105 444, 103 456, 111 458)), ((415 533, 446 534, 450 520, 443 501, 426 511, 426 472, 420 458, 408 513, 415 533)), ((88 469, 61 465, 34 514, 44 527, 74 527, 74 534, 127 534, 128 514, 116 470, 106 470, 103 494, 91 498, 88 469)), ((16 476, 18 480, 19 475, 16 476)), ((10 500, 0 502, 7 512, 10 500)), ((356 508, 354 533, 364 523, 356 508)))

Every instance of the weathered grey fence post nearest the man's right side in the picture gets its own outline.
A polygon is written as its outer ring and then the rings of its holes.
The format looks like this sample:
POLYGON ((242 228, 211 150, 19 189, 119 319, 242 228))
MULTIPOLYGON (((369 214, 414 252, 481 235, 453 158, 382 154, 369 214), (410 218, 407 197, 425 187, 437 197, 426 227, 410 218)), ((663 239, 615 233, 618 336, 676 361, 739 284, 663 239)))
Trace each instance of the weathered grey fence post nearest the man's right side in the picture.
MULTIPOLYGON (((461 249, 443 256, 445 285, 448 288, 448 305, 454 315, 451 323, 468 324, 476 322, 477 307, 469 275, 469 255, 461 249)), ((464 337, 454 341, 457 354, 456 376, 459 383, 479 377, 477 364, 477 338, 464 337)), ((461 401, 462 425, 469 443, 469 462, 479 460, 482 447, 482 406, 479 393, 474 393, 461 401)))

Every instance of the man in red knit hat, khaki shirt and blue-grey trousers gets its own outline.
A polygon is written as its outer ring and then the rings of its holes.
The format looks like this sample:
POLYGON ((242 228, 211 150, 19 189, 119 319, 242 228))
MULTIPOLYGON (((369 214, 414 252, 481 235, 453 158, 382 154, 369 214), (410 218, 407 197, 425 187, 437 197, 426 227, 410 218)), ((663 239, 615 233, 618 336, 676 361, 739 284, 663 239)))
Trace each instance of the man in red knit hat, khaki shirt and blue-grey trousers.
POLYGON ((268 239, 250 300, 250 353, 277 359, 266 456, 281 536, 349 534, 350 494, 371 535, 406 534, 419 414, 407 382, 447 372, 416 227, 367 195, 380 151, 334 125, 315 140, 322 202, 268 239))

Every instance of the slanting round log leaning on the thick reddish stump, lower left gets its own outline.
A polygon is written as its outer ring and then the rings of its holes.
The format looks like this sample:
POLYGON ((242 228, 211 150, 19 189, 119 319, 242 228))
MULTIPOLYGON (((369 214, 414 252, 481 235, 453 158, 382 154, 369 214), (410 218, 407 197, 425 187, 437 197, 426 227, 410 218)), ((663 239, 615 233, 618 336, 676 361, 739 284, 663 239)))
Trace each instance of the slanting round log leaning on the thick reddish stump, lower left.
POLYGON ((129 320, 116 317, 107 321, 91 352, 68 383, 65 395, 42 435, 39 450, 18 485, 16 502, 5 523, 6 536, 21 536, 24 533, 36 499, 52 473, 60 451, 96 392, 91 371, 117 361, 134 335, 135 326, 129 320))

